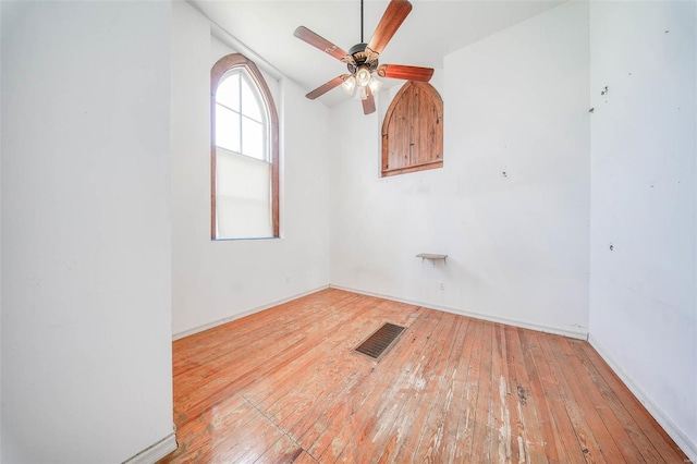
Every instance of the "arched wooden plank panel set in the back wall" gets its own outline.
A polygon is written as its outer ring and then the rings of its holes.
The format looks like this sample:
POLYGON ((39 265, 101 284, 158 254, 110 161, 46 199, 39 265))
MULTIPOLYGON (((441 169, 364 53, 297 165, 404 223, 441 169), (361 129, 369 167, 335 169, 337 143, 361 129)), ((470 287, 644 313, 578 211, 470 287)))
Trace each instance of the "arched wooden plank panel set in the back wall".
POLYGON ((382 122, 382 176, 443 167, 443 100, 430 84, 408 81, 382 122))

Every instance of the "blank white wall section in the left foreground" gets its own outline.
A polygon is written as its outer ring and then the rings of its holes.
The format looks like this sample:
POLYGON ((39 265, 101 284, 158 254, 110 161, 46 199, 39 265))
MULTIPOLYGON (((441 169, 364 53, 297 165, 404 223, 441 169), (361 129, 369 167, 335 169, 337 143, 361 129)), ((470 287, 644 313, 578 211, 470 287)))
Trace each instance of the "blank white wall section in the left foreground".
POLYGON ((172 434, 168 2, 2 2, 2 462, 172 434))

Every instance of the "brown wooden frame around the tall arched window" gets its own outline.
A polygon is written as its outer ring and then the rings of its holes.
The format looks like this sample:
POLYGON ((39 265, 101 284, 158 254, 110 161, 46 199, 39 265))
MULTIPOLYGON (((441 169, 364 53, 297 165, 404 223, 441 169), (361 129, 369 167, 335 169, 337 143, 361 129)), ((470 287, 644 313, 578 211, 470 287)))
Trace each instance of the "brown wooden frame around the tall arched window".
POLYGON ((210 237, 218 240, 216 228, 216 94, 218 85, 227 77, 230 71, 237 68, 244 70, 256 84, 261 94, 262 103, 266 106, 267 144, 269 162, 271 163, 271 216, 273 221, 273 237, 280 236, 279 227, 279 117, 273 103, 271 90, 261 75, 257 65, 242 53, 231 53, 216 62, 210 71, 210 237))

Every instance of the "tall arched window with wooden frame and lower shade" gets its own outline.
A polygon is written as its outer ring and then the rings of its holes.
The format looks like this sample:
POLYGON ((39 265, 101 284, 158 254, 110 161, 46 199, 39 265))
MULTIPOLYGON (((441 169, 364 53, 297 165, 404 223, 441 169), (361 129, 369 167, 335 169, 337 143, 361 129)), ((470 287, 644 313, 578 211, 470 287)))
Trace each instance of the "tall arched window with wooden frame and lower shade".
POLYGON ((279 236, 279 120, 271 91, 243 54, 210 72, 211 239, 279 236))

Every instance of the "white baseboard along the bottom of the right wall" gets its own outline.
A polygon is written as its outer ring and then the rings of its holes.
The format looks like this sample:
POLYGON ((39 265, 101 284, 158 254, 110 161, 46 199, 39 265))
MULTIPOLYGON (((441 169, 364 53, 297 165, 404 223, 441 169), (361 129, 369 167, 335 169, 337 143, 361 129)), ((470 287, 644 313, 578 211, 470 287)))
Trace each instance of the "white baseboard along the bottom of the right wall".
POLYGON ((629 376, 626 370, 617 363, 606 350, 604 345, 598 341, 592 335, 588 337, 588 342, 590 345, 598 352, 600 357, 604 359, 606 363, 610 366, 610 368, 620 377, 620 379, 624 382, 624 384, 629 389, 629 391, 644 404, 644 407, 653 416, 656 422, 659 423, 663 430, 675 441, 675 443, 683 450, 687 457, 692 460, 692 462, 697 463, 697 443, 694 443, 687 435, 683 432, 683 430, 673 422, 671 418, 663 413, 655 402, 651 400, 646 391, 637 382, 634 381, 632 376, 629 376))

